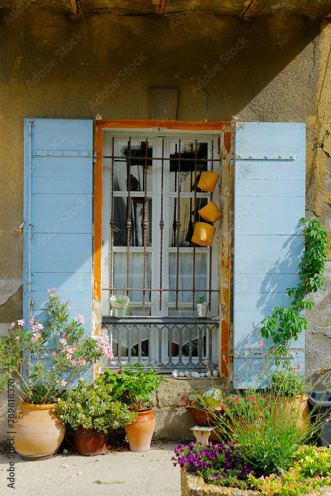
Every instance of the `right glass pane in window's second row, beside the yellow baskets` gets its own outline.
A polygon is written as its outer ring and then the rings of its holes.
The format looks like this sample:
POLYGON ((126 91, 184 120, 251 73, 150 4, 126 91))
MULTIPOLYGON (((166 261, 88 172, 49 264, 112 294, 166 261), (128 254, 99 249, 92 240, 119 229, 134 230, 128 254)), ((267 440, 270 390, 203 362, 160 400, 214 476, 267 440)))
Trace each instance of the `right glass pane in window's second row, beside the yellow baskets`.
MULTIPOLYGON (((196 218, 197 222, 200 219, 198 210, 208 203, 208 198, 197 198, 196 200, 196 218)), ((177 247, 177 223, 178 217, 178 198, 169 198, 169 246, 177 247)), ((180 247, 193 247, 191 242, 193 235, 193 222, 194 222, 194 198, 181 198, 180 199, 180 221, 181 227, 179 230, 179 246, 180 247)))

